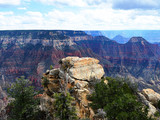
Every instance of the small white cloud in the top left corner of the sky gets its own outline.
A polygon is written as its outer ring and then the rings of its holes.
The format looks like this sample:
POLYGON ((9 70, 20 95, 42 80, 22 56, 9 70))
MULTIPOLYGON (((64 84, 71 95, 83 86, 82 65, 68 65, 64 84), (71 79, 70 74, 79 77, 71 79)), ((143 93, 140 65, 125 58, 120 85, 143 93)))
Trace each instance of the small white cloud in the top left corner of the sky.
POLYGON ((20 5, 21 0, 0 0, 0 5, 20 5))

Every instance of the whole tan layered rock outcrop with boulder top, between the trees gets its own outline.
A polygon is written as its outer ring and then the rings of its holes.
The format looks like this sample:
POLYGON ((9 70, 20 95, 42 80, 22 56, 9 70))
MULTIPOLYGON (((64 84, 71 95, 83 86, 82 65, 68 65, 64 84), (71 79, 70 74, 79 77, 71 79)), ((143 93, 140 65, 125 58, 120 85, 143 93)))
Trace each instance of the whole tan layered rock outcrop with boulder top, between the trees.
POLYGON ((44 86, 42 109, 50 111, 54 102, 52 95, 67 89, 75 98, 73 104, 78 117, 92 119, 94 112, 88 105, 90 101, 87 100, 87 95, 92 93, 92 84, 105 74, 103 67, 97 59, 88 57, 66 57, 59 63, 60 68, 47 70, 43 76, 49 80, 49 84, 44 86))

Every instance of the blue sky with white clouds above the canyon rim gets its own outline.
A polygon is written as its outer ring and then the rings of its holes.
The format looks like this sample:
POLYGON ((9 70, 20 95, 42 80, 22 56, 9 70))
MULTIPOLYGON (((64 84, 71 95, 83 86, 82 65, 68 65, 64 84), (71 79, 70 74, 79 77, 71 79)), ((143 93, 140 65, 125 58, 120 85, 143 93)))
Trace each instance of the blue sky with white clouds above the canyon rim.
POLYGON ((160 0, 0 0, 0 30, 159 30, 160 0))

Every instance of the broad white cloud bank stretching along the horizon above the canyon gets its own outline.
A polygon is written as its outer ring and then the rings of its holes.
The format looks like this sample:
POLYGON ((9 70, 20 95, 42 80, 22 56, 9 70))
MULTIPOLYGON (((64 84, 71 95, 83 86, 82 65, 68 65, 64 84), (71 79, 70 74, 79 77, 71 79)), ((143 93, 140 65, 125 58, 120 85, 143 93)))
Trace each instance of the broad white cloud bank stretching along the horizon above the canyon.
POLYGON ((159 29, 160 16, 156 10, 114 10, 112 8, 52 10, 48 13, 27 11, 15 15, 0 12, 0 29, 70 29, 126 30, 159 29))

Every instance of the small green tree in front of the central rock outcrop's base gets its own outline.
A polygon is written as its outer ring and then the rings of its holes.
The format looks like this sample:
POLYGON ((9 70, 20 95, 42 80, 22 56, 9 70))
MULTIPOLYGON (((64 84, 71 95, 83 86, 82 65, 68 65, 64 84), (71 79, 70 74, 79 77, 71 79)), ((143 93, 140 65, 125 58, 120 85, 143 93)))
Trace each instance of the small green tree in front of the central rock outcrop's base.
POLYGON ((60 120, 76 120, 77 115, 75 107, 71 105, 71 101, 74 100, 69 93, 55 93, 55 102, 53 104, 55 109, 55 116, 60 120))

